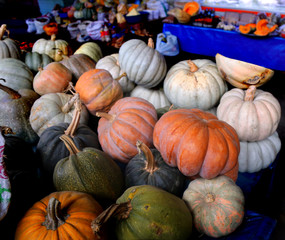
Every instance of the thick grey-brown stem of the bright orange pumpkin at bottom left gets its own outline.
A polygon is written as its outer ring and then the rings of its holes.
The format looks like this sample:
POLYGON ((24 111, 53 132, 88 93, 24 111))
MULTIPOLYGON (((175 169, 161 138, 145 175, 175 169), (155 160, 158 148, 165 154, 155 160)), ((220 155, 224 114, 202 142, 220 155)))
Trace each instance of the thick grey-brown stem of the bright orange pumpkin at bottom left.
POLYGON ((47 230, 56 230, 59 226, 65 223, 68 215, 64 216, 60 209, 60 201, 56 198, 51 198, 47 206, 46 220, 43 225, 47 230))

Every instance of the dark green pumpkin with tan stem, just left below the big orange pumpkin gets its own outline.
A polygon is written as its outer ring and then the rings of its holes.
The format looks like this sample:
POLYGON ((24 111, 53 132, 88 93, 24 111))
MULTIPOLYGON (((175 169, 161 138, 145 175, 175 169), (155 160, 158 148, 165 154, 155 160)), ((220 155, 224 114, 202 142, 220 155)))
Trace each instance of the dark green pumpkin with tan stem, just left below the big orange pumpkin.
POLYGON ((139 153, 125 168, 126 187, 152 185, 182 195, 185 176, 179 169, 166 164, 157 149, 149 149, 141 141, 137 142, 137 147, 139 153))

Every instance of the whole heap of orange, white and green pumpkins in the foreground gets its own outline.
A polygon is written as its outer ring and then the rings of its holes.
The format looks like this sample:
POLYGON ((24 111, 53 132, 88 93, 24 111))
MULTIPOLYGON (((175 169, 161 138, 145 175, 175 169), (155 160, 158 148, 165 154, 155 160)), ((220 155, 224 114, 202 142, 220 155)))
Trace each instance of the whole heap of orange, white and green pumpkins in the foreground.
POLYGON ((0 227, 13 221, 15 239, 187 240, 241 225, 238 172, 268 167, 281 148, 279 102, 257 89, 272 70, 220 54, 168 70, 151 39, 109 56, 54 36, 29 53, 0 43, 12 186, 0 227))

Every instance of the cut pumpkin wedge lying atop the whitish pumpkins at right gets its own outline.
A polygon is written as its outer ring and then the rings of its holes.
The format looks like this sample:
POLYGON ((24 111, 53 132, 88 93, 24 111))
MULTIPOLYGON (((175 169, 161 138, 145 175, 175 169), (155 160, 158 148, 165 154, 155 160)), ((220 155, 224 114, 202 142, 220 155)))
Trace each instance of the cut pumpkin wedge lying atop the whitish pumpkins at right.
POLYGON ((216 54, 216 63, 223 79, 237 88, 262 86, 274 75, 274 71, 269 68, 228 58, 219 53, 216 54))

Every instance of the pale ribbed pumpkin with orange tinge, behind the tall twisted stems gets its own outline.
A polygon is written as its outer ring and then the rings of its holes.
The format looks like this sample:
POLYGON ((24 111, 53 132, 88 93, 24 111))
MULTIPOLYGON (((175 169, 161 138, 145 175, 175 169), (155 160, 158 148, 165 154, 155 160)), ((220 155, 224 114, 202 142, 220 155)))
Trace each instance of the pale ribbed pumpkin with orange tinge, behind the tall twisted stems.
MULTIPOLYGON (((37 99, 30 113, 30 123, 34 131, 41 136, 48 127, 59 123, 70 123, 75 111, 74 102, 78 95, 72 96, 67 93, 47 93, 37 99)), ((89 113, 83 106, 80 123, 88 123, 89 113)))

